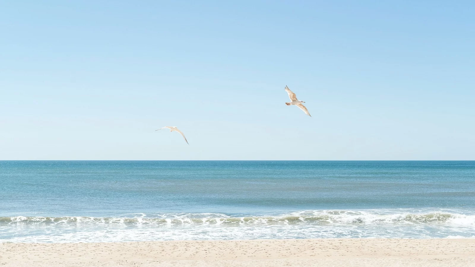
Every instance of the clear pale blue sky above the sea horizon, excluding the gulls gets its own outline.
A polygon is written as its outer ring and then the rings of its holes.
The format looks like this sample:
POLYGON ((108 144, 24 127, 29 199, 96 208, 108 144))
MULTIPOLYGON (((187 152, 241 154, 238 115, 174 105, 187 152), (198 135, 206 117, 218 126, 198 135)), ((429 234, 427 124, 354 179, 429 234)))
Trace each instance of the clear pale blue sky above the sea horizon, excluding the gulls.
POLYGON ((1 1, 0 36, 0 160, 475 160, 474 1, 1 1))

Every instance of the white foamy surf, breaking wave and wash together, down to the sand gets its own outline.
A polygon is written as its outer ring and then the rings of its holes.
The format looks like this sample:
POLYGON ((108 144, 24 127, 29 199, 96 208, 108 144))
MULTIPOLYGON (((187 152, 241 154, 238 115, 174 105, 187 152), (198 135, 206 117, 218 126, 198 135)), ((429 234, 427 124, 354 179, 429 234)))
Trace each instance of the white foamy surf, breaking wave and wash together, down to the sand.
POLYGON ((0 217, 0 242, 255 238, 474 238, 464 210, 303 210, 283 214, 153 213, 0 217))

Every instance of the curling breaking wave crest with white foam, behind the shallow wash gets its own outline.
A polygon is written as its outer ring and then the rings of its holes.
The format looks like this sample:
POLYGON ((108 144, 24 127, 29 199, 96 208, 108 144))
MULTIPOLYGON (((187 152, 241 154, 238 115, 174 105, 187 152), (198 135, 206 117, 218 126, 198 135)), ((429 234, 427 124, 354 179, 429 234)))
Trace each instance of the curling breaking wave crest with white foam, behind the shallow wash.
POLYGON ((123 224, 123 225, 254 225, 254 224, 376 224, 376 223, 447 223, 475 225, 475 215, 442 211, 427 213, 381 213, 349 210, 299 211, 273 216, 226 215, 221 213, 154 213, 130 217, 0 217, 5 224, 123 224))

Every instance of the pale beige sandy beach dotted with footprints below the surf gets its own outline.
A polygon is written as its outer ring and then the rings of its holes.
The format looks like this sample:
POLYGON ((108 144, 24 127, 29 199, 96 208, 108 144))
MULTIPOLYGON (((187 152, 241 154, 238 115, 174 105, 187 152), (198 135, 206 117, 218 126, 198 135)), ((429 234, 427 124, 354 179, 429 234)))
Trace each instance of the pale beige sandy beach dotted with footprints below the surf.
POLYGON ((3 243, 0 266, 475 267, 475 239, 3 243))

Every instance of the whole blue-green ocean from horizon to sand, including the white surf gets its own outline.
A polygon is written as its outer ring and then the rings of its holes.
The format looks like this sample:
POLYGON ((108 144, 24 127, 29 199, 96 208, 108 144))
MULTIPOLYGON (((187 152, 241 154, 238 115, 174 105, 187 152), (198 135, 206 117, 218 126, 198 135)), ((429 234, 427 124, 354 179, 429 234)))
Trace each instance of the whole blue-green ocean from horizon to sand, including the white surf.
POLYGON ((0 242, 475 238, 474 161, 0 161, 0 242))

